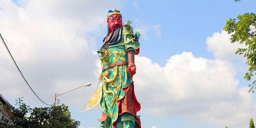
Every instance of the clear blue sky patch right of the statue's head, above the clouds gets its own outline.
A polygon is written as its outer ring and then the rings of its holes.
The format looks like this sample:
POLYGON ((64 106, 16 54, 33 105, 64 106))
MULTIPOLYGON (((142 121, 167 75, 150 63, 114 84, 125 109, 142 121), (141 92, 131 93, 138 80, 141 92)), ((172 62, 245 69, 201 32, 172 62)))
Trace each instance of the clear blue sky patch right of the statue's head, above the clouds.
POLYGON ((150 39, 142 41, 145 44, 145 52, 141 52, 143 56, 150 57, 160 65, 164 65, 170 55, 183 51, 193 52, 195 57, 214 59, 206 49, 206 38, 214 32, 220 32, 227 19, 236 18, 238 14, 254 12, 255 3, 254 0, 239 3, 232 0, 134 2, 138 9, 134 8, 133 2, 126 2, 127 6, 123 10, 124 19, 140 21, 134 22, 134 28, 142 24, 161 26, 161 36, 156 37, 153 30, 149 32, 147 37, 150 39), (161 44, 161 47, 156 47, 156 44, 161 44))

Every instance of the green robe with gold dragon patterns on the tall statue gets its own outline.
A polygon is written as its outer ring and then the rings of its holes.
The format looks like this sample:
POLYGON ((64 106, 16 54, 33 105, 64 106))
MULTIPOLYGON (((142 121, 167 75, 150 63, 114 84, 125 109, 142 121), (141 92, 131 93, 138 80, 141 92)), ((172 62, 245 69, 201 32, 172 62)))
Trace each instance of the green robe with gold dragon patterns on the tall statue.
MULTIPOLYGON (((119 43, 98 51, 101 54, 102 68, 107 68, 112 63, 128 62, 126 52, 139 49, 140 43, 133 41, 134 34, 130 24, 126 23, 119 32, 119 43)), ((113 123, 115 122, 116 128, 137 128, 136 122, 138 116, 130 113, 118 114, 117 101, 125 96, 123 89, 133 83, 127 66, 118 65, 107 68, 101 74, 102 96, 100 106, 102 111, 107 115, 107 119, 101 123, 101 127, 113 128, 113 123)))

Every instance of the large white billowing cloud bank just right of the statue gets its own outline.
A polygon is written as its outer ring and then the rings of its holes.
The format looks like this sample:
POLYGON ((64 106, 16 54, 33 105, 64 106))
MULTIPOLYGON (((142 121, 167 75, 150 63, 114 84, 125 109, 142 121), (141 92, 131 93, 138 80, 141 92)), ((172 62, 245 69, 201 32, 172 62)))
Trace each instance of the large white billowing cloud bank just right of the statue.
POLYGON ((170 57, 164 67, 146 57, 136 57, 135 62, 135 91, 145 112, 198 117, 234 128, 253 116, 248 113, 255 110, 253 97, 238 88, 235 69, 227 61, 183 52, 170 57))

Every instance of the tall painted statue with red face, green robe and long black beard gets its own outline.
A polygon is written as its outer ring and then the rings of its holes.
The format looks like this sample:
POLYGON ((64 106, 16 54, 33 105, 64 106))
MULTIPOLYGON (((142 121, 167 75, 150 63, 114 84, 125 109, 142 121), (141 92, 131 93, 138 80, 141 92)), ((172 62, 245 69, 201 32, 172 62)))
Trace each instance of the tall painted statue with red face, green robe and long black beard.
POLYGON ((103 128, 141 128, 137 112, 141 106, 134 94, 133 75, 136 73, 134 55, 139 54, 140 33, 133 33, 131 21, 122 23, 120 11, 109 10, 107 35, 100 55, 102 73, 100 83, 81 111, 100 104, 102 117, 98 119, 103 128))

